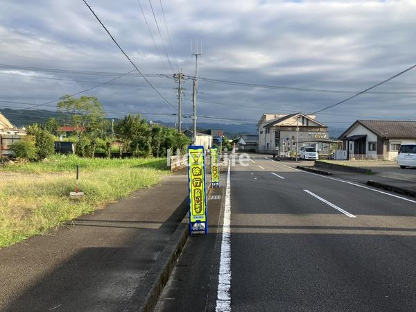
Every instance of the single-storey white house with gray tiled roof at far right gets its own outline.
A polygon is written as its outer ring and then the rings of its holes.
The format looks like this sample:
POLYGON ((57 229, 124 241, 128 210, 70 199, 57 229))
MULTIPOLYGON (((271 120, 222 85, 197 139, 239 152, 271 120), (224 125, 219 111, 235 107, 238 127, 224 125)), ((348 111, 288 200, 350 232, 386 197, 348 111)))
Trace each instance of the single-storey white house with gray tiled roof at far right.
POLYGON ((394 160, 400 144, 416 143, 416 121, 357 120, 338 139, 347 159, 394 160))

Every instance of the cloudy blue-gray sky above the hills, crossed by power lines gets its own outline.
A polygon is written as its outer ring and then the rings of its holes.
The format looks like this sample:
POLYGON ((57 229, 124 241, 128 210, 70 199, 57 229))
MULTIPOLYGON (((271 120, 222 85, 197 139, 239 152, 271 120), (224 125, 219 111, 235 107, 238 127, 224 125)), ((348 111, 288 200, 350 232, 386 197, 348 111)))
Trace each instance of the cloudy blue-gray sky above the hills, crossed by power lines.
MULTIPOLYGON (((83 93, 97 96, 109 117, 175 121, 178 71, 189 76, 182 112, 190 116, 191 40, 202 40, 197 112, 204 122, 315 112, 416 64, 415 0, 87 2, 163 96, 137 71, 83 93)), ((135 69, 82 0, 0 0, 0 64, 0 110, 54 101, 135 69)), ((416 119, 415 78, 413 69, 317 119, 338 128, 356 119, 416 119)), ((33 109, 55 110, 55 102, 33 109)))

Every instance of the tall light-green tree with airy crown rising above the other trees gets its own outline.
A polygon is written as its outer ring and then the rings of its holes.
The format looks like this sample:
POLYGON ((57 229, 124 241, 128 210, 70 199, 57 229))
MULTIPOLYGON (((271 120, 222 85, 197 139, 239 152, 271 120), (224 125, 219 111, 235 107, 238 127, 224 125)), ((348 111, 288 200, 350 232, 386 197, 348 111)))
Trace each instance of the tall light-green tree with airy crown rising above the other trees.
POLYGON ((101 121, 105 117, 103 106, 95 96, 62 96, 62 101, 58 102, 58 109, 61 112, 71 114, 72 125, 75 128, 78 142, 81 141, 84 133, 98 136, 101 133, 101 121))

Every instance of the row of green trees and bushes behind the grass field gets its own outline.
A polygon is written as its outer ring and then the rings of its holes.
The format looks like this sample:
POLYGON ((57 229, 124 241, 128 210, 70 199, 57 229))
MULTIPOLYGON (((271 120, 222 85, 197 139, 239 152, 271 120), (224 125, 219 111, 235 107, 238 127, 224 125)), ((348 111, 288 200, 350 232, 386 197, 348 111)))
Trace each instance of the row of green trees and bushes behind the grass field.
POLYGON ((105 111, 96 96, 62 96, 57 108, 66 118, 50 118, 45 123, 33 123, 26 128, 25 139, 12 144, 15 157, 42 160, 54 153, 54 142, 66 135, 62 125, 70 125, 73 132, 65 141, 73 141, 75 153, 94 157, 105 153, 120 157, 164 157, 168 149, 184 151, 191 140, 173 128, 149 123, 139 114, 128 114, 112 123, 105 119, 105 111))

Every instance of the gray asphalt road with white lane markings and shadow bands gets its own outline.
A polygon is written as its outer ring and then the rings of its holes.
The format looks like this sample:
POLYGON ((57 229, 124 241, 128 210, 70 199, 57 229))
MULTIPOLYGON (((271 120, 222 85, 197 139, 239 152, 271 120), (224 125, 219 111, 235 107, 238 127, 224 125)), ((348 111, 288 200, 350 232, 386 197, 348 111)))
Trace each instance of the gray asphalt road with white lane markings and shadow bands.
POLYGON ((246 163, 230 171, 229 227, 223 188, 156 311, 415 311, 415 198, 246 163))

